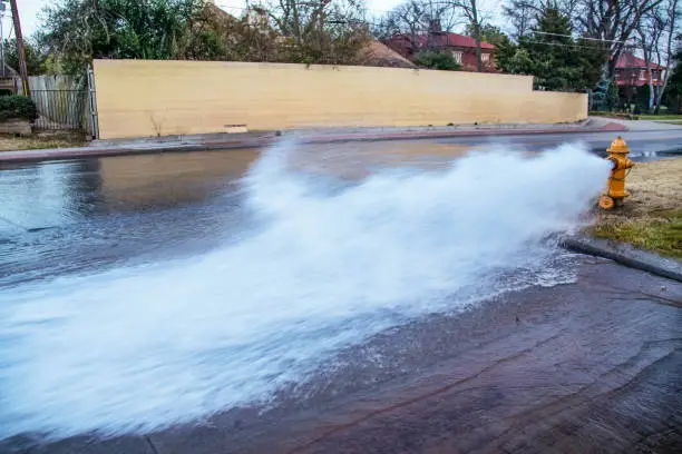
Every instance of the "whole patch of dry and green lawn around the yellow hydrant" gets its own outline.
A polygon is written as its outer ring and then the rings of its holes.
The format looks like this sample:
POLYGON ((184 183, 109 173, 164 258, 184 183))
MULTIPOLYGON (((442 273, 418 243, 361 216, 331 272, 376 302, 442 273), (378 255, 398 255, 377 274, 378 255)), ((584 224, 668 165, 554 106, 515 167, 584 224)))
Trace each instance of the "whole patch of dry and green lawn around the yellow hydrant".
POLYGON ((636 164, 622 208, 597 210, 587 233, 682 259, 682 158, 636 164))

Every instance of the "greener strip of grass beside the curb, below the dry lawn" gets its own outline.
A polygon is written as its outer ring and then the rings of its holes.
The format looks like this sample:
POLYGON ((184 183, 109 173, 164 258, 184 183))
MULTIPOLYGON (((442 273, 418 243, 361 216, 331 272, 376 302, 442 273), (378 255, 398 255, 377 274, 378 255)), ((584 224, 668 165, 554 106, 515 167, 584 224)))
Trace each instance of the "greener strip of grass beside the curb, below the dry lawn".
POLYGON ((682 209, 657 213, 655 218, 604 223, 590 229, 597 238, 630 243, 662 256, 682 259, 682 209))

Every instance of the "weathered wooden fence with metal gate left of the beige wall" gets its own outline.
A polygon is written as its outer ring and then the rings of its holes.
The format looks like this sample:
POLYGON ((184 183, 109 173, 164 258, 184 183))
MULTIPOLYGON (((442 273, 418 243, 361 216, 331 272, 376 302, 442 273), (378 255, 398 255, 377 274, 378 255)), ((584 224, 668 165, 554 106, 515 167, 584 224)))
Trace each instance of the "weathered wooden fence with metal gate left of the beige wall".
POLYGON ((87 130, 88 90, 31 90, 38 109, 35 130, 87 130))

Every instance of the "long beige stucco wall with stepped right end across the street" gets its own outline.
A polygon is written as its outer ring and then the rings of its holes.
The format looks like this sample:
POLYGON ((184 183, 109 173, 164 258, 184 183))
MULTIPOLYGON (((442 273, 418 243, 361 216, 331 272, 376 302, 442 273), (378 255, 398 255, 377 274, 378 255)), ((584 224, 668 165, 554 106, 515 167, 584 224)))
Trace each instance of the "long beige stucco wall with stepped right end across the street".
POLYGON ((343 126, 561 122, 585 95, 534 92, 525 76, 398 68, 97 60, 100 137, 343 126))

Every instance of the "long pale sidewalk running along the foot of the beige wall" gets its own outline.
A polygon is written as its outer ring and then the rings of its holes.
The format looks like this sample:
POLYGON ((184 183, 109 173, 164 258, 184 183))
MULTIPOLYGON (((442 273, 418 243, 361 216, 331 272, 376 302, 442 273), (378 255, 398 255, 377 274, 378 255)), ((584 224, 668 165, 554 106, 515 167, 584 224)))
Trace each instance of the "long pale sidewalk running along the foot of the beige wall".
POLYGON ((403 128, 330 128, 291 131, 254 131, 243 134, 207 134, 196 136, 169 136, 162 138, 95 140, 88 147, 53 148, 42 150, 18 150, 0 152, 0 162, 42 161, 143 155, 154 152, 179 152, 267 147, 282 138, 292 138, 301 144, 329 144, 339 141, 416 140, 472 136, 522 136, 542 134, 586 134, 626 131, 614 121, 588 119, 567 125, 462 125, 403 128))

